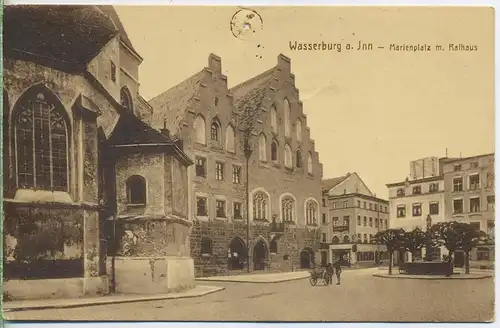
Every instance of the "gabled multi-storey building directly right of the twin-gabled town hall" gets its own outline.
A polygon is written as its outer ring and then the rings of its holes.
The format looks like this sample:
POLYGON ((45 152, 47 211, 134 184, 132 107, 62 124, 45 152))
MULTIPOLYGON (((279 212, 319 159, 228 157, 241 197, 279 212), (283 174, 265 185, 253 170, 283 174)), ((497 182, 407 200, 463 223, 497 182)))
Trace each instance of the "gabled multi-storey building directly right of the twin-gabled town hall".
POLYGON ((389 203, 377 198, 357 173, 323 180, 321 263, 373 265, 387 258, 375 235, 389 228, 389 203))

